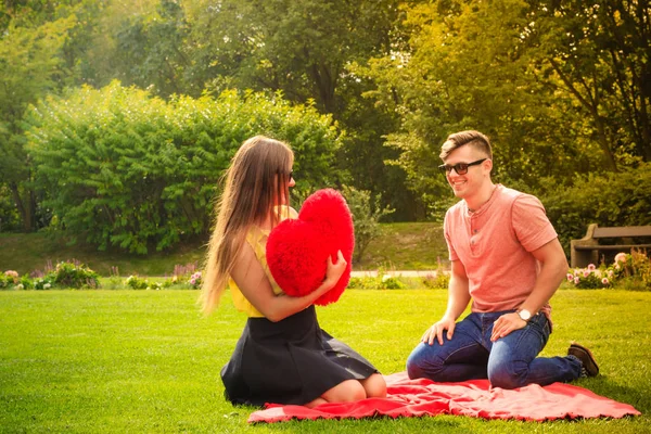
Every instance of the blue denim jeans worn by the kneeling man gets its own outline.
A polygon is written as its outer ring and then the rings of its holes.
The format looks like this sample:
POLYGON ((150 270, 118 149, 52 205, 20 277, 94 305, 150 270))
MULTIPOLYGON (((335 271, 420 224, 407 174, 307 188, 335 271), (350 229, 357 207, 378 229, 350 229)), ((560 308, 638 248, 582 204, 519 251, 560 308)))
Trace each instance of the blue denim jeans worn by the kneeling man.
POLYGON ((436 382, 488 379, 501 388, 576 380, 582 368, 576 358, 536 358, 551 333, 542 314, 532 317, 524 329, 490 342, 493 323, 512 311, 470 314, 457 322, 451 340, 444 333, 443 345, 436 340, 432 345, 421 342, 407 359, 409 378, 436 382))

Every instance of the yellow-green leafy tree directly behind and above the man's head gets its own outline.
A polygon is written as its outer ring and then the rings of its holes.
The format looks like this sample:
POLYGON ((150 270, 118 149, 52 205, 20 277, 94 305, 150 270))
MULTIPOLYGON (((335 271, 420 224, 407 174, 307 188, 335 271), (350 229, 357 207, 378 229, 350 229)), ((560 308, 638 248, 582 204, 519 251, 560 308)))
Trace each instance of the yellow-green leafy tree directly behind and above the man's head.
POLYGON ((437 169, 441 144, 450 132, 488 133, 496 144, 496 175, 503 179, 537 174, 550 159, 548 142, 532 137, 534 131, 549 135, 539 123, 550 116, 540 86, 527 81, 528 61, 519 49, 525 8, 518 0, 418 4, 407 10, 408 39, 358 69, 378 86, 366 95, 401 116, 387 144, 400 151, 396 164, 407 171, 407 186, 426 204, 430 218, 442 219, 454 201, 437 169), (499 164, 506 156, 509 166, 499 164))

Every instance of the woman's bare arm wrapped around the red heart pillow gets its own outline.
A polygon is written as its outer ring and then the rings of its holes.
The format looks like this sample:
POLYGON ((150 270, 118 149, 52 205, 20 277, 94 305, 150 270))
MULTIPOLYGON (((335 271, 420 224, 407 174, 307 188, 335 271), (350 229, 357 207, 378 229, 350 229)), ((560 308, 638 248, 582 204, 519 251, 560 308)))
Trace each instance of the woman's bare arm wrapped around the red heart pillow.
POLYGON ((317 298, 330 291, 346 269, 346 260, 342 252, 337 252, 336 264, 328 257, 326 280, 314 292, 302 297, 278 296, 265 275, 263 266, 255 256, 253 247, 244 243, 231 278, 246 299, 269 321, 277 322, 296 314, 311 305, 317 298))

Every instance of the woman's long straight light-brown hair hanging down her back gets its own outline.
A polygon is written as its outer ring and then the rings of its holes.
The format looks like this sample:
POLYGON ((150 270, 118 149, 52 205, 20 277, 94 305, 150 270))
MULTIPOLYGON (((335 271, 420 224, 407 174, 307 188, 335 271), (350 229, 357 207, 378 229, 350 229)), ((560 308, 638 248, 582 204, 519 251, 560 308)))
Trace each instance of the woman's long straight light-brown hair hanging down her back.
POLYGON ((210 241, 201 291, 203 311, 209 314, 228 285, 229 275, 244 245, 251 225, 269 217, 280 221, 282 194, 289 201, 290 170, 294 153, 283 142, 256 136, 246 140, 231 161, 226 184, 215 206, 217 224, 210 241))

